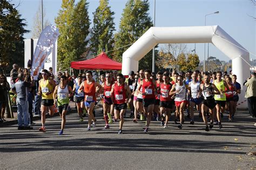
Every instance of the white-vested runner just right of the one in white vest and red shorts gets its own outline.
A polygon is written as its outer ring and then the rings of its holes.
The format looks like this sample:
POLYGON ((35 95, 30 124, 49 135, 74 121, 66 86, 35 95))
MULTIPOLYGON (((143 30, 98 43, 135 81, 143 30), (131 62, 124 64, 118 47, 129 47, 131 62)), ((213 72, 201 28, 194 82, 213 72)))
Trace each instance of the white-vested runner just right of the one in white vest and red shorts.
POLYGON ((195 73, 192 74, 192 81, 188 84, 188 92, 191 96, 190 98, 190 124, 194 125, 194 106, 198 106, 199 114, 201 113, 201 94, 200 90, 200 82, 197 80, 197 75, 195 73))

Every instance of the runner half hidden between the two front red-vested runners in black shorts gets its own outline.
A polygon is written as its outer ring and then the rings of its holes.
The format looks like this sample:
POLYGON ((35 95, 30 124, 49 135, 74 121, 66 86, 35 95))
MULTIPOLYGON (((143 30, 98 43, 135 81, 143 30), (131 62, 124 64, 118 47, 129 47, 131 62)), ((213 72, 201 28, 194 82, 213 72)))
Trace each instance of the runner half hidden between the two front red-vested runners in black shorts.
MULTIPOLYGON (((163 73, 162 72, 157 73, 157 81, 156 81, 157 89, 160 88, 160 83, 163 83, 163 73)), ((157 114, 157 121, 161 120, 161 116, 160 116, 160 112, 159 112, 159 105, 160 105, 160 94, 156 94, 156 100, 154 100, 154 113, 157 114)), ((160 125, 164 126, 163 121, 161 121, 160 125)))

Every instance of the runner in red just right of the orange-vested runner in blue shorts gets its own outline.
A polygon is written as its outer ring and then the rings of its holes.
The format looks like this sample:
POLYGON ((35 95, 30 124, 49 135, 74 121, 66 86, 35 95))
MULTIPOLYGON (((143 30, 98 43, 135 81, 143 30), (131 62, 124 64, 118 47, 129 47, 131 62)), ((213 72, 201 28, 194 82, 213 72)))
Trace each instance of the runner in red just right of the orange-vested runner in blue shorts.
POLYGON ((111 107, 113 105, 112 99, 111 99, 111 89, 112 89, 112 77, 110 72, 106 72, 106 76, 105 76, 105 82, 102 84, 102 89, 103 89, 103 94, 101 96, 103 96, 103 114, 104 114, 104 119, 105 119, 105 123, 106 126, 104 127, 104 129, 108 129, 110 128, 109 124, 112 123, 111 120, 111 113, 113 110, 113 107, 111 107), (110 112, 109 112, 110 110, 110 112))

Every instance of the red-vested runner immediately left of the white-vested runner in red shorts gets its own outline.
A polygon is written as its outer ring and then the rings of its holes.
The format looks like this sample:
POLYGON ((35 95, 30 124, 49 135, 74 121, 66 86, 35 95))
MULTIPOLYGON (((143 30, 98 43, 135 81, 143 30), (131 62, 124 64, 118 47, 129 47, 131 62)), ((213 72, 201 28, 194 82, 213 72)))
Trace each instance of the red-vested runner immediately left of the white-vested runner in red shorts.
POLYGON ((173 106, 173 100, 171 99, 171 96, 169 95, 171 89, 172 89, 172 84, 169 82, 169 75, 164 74, 163 75, 163 83, 160 83, 160 112, 162 115, 162 122, 164 121, 165 118, 165 124, 164 128, 168 127, 168 121, 171 115, 172 111, 172 106, 173 106))

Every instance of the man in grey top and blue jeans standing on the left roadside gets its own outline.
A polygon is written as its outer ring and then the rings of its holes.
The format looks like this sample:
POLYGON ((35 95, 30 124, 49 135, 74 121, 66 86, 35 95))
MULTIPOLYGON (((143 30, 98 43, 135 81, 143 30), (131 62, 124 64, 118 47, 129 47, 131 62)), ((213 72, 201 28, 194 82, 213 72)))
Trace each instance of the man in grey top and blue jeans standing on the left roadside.
POLYGON ((17 94, 18 130, 32 130, 33 127, 29 126, 29 101, 27 87, 31 87, 33 83, 24 81, 24 73, 19 73, 18 79, 17 83, 15 83, 11 88, 12 92, 17 94))

